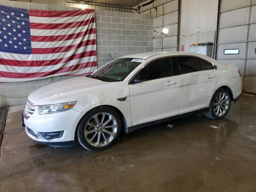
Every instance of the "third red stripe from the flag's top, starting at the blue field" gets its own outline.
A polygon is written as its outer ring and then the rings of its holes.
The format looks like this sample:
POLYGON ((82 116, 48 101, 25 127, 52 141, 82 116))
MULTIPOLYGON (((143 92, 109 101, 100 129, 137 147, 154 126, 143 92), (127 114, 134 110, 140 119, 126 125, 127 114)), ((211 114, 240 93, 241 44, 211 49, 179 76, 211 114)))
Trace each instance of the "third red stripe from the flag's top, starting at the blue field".
POLYGON ((33 42, 53 42, 53 41, 64 41, 64 40, 71 40, 76 39, 88 34, 95 34, 96 29, 91 28, 83 32, 68 34, 68 35, 53 35, 53 36, 31 36, 31 41, 33 42))

